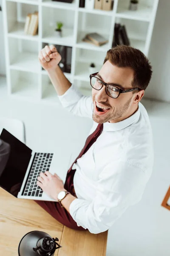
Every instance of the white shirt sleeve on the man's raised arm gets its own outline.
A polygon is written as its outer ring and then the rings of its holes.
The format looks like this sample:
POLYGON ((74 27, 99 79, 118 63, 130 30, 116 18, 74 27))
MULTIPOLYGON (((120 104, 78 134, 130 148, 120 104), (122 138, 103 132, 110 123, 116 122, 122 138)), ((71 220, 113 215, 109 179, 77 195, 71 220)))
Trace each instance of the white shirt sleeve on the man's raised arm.
POLYGON ((92 118, 92 96, 83 96, 74 84, 63 95, 58 96, 58 98, 62 106, 74 115, 92 118))

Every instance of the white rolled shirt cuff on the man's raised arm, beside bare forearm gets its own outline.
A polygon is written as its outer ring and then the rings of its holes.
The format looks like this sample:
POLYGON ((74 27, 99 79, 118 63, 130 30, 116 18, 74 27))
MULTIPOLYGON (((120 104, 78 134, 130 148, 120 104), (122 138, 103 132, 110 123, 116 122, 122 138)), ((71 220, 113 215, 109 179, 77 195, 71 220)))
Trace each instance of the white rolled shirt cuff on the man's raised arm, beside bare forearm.
POLYGON ((68 107, 69 105, 75 104, 82 98, 82 93, 77 90, 74 84, 71 85, 66 92, 60 96, 58 96, 59 101, 61 102, 63 107, 68 107))

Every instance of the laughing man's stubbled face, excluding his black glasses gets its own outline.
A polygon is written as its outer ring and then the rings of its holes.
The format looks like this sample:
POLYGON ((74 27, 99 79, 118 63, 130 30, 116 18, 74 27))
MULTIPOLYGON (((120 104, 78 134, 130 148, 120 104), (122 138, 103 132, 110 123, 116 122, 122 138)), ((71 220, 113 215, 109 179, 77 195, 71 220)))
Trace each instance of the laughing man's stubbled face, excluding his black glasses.
MULTIPOLYGON (((105 83, 120 84, 123 88, 132 88, 133 70, 129 67, 116 67, 111 64, 110 61, 106 61, 99 71, 99 77, 105 83)), ((92 98, 94 103, 93 120, 97 123, 105 122, 119 122, 123 120, 124 116, 128 113, 130 108, 134 108, 133 92, 120 93, 117 99, 113 99, 107 95, 105 91, 105 85, 101 90, 95 90, 92 88, 92 98), (109 108, 105 112, 101 112, 101 109, 97 105, 109 108)))

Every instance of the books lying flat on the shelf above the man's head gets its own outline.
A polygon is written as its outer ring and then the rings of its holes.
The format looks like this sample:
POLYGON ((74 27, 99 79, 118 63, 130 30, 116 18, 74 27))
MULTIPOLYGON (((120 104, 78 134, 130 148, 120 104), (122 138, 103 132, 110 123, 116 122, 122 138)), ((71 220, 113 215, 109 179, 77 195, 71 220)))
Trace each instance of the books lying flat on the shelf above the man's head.
POLYGON ((82 41, 87 42, 89 44, 94 44, 96 46, 101 46, 103 44, 108 43, 108 40, 106 40, 102 35, 99 35, 95 32, 86 34, 85 37, 82 38, 82 41))

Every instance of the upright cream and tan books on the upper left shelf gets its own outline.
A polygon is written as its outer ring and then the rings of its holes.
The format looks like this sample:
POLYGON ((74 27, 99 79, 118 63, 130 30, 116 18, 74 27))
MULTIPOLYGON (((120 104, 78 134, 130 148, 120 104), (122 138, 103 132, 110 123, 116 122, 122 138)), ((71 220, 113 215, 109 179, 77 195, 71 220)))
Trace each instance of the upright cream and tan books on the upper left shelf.
POLYGON ((38 12, 28 13, 24 27, 24 33, 27 35, 37 35, 38 32, 38 12))

